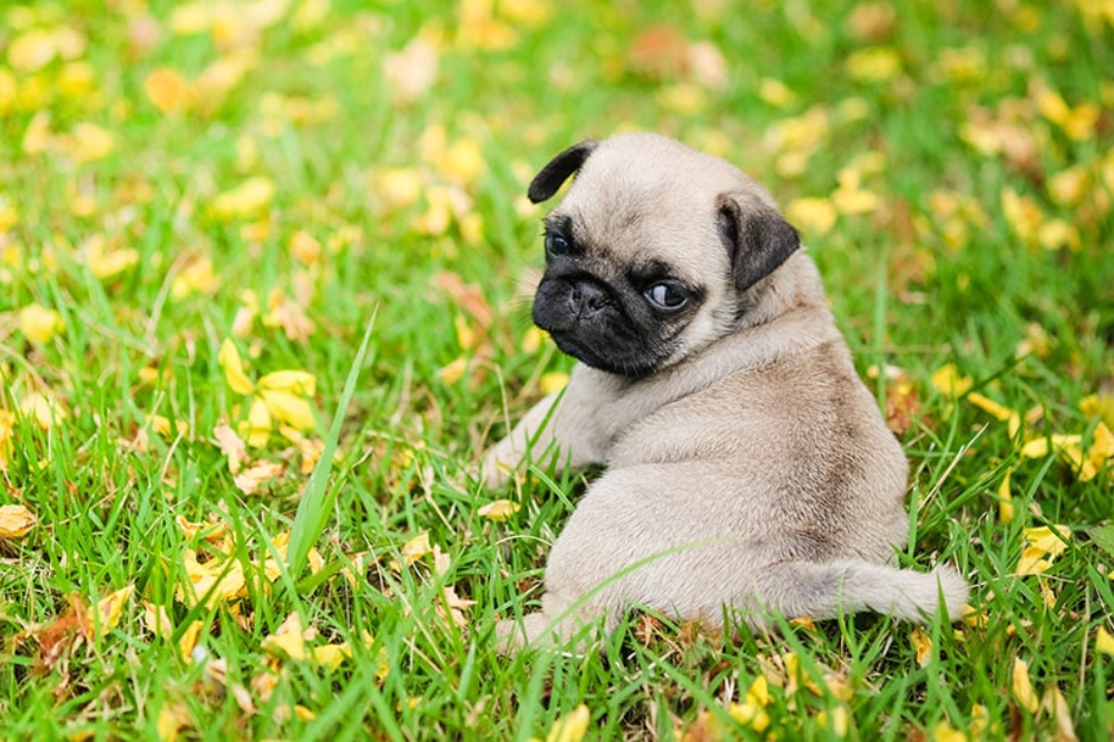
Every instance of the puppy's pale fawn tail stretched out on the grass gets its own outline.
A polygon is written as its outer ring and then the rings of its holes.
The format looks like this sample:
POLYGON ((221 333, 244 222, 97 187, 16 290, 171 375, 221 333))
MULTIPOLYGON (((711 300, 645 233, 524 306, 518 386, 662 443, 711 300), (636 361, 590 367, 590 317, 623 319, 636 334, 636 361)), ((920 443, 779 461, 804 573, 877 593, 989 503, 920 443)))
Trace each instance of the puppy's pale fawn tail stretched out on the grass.
POLYGON ((951 567, 924 573, 861 559, 781 563, 763 569, 756 582, 760 602, 789 617, 873 611, 917 623, 940 613, 958 621, 969 593, 951 567))

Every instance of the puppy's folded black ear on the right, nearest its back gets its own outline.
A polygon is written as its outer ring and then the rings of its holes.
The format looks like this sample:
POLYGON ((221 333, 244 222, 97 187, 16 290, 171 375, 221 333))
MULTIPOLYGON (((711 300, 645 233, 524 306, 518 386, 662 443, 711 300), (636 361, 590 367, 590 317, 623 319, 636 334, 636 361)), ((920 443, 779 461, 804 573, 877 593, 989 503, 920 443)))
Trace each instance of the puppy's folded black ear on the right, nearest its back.
POLYGON ((801 246, 797 230, 776 209, 756 198, 723 194, 719 219, 739 291, 773 273, 801 246))

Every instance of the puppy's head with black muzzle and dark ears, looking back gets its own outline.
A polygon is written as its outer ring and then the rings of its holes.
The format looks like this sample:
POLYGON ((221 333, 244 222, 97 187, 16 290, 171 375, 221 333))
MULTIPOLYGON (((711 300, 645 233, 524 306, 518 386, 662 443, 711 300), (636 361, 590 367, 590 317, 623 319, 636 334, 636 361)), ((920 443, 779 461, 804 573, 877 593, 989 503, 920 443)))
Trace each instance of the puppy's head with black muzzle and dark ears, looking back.
POLYGON ((732 332, 800 246, 770 195, 729 163, 649 134, 582 141, 529 187, 550 198, 535 323, 588 365, 641 378, 732 332))

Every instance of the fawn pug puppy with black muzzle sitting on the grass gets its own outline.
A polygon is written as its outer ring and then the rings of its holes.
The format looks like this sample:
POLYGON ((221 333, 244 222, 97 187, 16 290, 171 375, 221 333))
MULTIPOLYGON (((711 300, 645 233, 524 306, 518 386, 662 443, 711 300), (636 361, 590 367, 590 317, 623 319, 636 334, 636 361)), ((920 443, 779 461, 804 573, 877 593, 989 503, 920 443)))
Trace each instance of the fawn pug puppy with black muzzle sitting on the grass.
POLYGON ((541 168, 534 321, 580 361, 485 457, 490 488, 534 451, 606 471, 557 538, 541 609, 506 648, 610 629, 641 607, 713 628, 877 611, 956 619, 952 569, 892 566, 908 465, 771 196, 666 137, 582 141, 541 168))

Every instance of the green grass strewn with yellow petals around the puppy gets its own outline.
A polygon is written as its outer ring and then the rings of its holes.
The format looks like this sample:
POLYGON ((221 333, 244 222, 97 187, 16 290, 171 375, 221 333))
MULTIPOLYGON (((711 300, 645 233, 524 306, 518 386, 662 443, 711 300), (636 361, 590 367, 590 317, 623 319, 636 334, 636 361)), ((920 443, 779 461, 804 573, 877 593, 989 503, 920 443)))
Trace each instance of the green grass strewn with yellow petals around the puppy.
POLYGON ((1108 0, 0 19, 0 739, 1114 735, 1108 0), (583 491, 469 476, 570 368, 525 187, 626 129, 801 230, 968 621, 494 653, 583 491))

